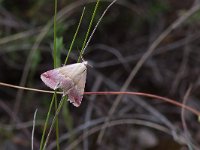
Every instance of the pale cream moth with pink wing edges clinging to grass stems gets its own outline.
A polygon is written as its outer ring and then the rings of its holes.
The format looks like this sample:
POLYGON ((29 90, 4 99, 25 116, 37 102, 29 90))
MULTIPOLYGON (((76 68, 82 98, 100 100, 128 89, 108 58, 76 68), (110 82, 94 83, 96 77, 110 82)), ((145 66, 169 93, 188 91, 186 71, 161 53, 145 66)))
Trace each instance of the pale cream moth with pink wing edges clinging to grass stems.
POLYGON ((62 89, 63 96, 68 95, 68 100, 79 107, 87 75, 87 61, 65 65, 41 74, 41 80, 51 89, 62 89))

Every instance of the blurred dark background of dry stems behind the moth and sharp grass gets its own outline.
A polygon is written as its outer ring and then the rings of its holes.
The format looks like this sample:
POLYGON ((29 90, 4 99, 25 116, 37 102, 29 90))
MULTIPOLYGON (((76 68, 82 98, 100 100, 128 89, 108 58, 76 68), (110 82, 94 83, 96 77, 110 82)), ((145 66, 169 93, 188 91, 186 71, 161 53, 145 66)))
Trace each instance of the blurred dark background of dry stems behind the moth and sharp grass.
MULTIPOLYGON (((95 2, 58 0, 56 40, 60 66, 85 6, 68 64, 77 61, 95 2)), ((92 29, 111 2, 100 2, 92 29)), ((92 66, 88 67, 85 91, 120 91, 137 63, 144 60, 126 91, 152 93, 180 103, 185 98, 184 103, 200 109, 199 3, 116 1, 83 55, 92 66), (144 58, 147 51, 151 55, 144 58)), ((49 89, 40 74, 53 68, 53 15, 53 0, 0 0, 0 82, 49 89)), ((0 149, 31 149, 36 109, 34 147, 39 149, 51 98, 52 94, 0 86, 0 149)), ((127 95, 120 98, 98 143, 100 129, 116 98, 85 95, 78 108, 65 103, 59 114, 61 149, 198 149, 200 127, 195 115, 161 100, 127 95)), ((50 120, 53 116, 52 112, 50 120)), ((55 139, 53 129, 47 149, 56 149, 55 139)))

